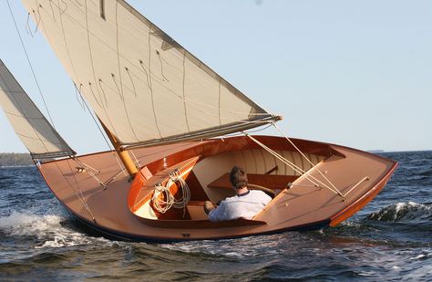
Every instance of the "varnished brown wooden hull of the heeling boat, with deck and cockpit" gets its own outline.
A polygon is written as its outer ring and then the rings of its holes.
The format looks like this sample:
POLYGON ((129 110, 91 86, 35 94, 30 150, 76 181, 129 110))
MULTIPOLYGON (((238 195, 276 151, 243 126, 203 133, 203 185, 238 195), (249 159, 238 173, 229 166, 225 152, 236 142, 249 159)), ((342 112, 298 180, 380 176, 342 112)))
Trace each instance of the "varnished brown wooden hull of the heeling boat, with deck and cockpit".
MULTIPOLYGON (((98 233, 121 240, 160 242, 232 238, 334 226, 370 202, 396 169, 396 162, 364 151, 316 141, 293 140, 306 156, 318 163, 316 167, 334 187, 343 194, 349 192, 344 200, 329 189, 311 184, 308 178, 312 176, 323 183, 326 181, 317 169, 310 170, 311 165, 285 139, 269 136, 257 139, 305 171, 309 170, 307 175, 310 176, 293 172, 247 137, 134 150, 142 170, 133 183, 129 182, 129 175, 118 174, 121 170, 115 154, 110 151, 78 157, 79 162, 71 159, 46 162, 39 166, 39 170, 67 210, 98 233), (233 165, 245 167, 248 173, 255 175, 255 181, 260 181, 260 175, 271 172, 266 174, 270 176, 262 177, 262 181, 274 186, 269 188, 281 192, 250 221, 239 219, 211 223, 202 218, 199 206, 188 206, 186 211, 167 214, 147 216, 139 213, 143 203, 149 200, 154 183, 167 179, 168 172, 188 160, 193 161, 186 179, 192 192, 191 203, 218 202, 230 195, 231 190, 224 189, 221 183, 223 173, 229 172, 233 165), (80 167, 86 168, 85 172, 80 172, 80 167), (93 171, 92 176, 88 173, 92 172, 90 167, 99 172, 93 171), (277 170, 272 172, 274 167, 277 170), (291 189, 284 189, 281 179, 293 179, 291 189), (106 186, 99 182, 106 183, 106 186)), ((329 183, 327 185, 332 187, 329 183)))

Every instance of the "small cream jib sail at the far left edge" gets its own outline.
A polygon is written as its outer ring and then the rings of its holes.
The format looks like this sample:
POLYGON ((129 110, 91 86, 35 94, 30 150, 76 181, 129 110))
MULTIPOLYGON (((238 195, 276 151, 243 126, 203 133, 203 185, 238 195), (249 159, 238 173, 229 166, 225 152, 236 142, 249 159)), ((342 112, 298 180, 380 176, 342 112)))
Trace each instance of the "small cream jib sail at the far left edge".
POLYGON ((0 60, 0 106, 34 159, 75 154, 0 60))

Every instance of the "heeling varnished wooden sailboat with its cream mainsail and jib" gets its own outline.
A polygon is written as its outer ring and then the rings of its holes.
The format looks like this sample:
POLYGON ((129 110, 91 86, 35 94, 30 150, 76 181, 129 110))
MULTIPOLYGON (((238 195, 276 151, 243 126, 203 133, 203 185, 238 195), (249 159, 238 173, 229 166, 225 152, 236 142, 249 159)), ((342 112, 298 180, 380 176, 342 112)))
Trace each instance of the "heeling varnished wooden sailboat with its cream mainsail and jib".
POLYGON ((114 150, 77 156, 0 64, 0 103, 46 184, 77 220, 123 240, 180 241, 338 225, 396 162, 344 146, 247 130, 281 120, 122 0, 24 0, 114 150), (242 136, 218 138, 242 132, 242 136), (55 160, 53 160, 55 159, 55 160), (273 200, 252 219, 211 222, 239 165, 273 200))

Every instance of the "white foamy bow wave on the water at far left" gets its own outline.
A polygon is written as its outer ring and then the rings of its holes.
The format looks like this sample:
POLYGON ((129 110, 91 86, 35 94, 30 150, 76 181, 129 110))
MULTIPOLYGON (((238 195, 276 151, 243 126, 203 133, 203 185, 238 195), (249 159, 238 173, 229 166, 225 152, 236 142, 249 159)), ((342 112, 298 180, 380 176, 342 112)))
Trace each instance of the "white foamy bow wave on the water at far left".
POLYGON ((12 212, 0 217, 1 233, 36 238, 35 248, 90 245, 103 238, 89 237, 62 225, 65 218, 54 214, 27 214, 12 212))

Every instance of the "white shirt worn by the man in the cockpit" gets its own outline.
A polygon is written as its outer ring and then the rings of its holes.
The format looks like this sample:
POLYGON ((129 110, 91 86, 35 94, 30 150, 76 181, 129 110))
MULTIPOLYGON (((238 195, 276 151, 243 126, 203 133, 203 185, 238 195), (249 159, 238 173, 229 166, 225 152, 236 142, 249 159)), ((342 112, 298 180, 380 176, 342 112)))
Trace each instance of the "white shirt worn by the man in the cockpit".
POLYGON ((211 221, 231 220, 244 217, 252 219, 260 213, 264 206, 272 201, 272 198, 262 191, 249 190, 247 193, 226 198, 209 214, 211 221))

